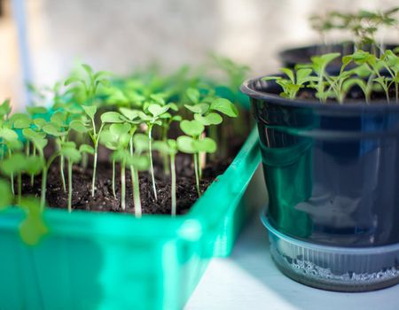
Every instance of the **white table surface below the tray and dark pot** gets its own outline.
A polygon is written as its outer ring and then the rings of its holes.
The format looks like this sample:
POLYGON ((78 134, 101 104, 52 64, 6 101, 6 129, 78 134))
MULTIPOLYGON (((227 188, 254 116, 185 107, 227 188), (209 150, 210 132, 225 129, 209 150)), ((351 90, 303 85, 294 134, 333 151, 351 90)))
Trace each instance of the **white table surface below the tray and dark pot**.
POLYGON ((258 218, 244 229, 227 259, 214 259, 186 310, 399 310, 399 285, 380 291, 321 291, 282 275, 270 259, 258 218))

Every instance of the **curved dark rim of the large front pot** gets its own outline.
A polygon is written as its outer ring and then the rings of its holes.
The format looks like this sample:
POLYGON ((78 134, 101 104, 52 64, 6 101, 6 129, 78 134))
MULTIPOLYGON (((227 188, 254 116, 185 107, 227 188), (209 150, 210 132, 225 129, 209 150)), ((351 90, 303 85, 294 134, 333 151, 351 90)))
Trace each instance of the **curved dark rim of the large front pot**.
POLYGON ((390 103, 384 100, 373 101, 372 104, 366 104, 364 100, 350 103, 338 104, 335 101, 327 100, 325 104, 320 103, 317 100, 305 100, 305 99, 287 99, 280 97, 279 95, 268 93, 265 91, 260 91, 254 89, 254 83, 262 82, 266 83, 266 87, 270 84, 270 81, 262 81, 262 78, 266 76, 276 76, 276 74, 266 74, 259 76, 254 79, 249 79, 244 81, 240 90, 242 93, 254 99, 261 99, 266 101, 271 101, 274 104, 291 106, 291 107, 302 107, 302 108, 312 108, 324 111, 348 111, 348 112, 399 112, 399 104, 390 103))

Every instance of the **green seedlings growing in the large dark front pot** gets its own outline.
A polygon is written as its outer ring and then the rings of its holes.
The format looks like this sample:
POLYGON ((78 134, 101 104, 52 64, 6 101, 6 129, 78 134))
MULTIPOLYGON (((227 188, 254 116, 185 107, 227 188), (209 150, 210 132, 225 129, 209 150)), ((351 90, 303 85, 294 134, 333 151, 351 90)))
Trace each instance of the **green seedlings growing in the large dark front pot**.
POLYGON ((339 74, 328 74, 326 67, 339 56, 339 53, 328 53, 314 57, 311 65, 298 65, 296 72, 283 68, 282 72, 288 76, 283 83, 280 77, 275 76, 264 80, 276 80, 283 89, 280 95, 292 99, 296 97, 298 89, 315 89, 315 96, 322 103, 333 98, 342 104, 350 90, 357 87, 363 92, 366 103, 370 103, 373 92, 383 92, 387 103, 390 103, 391 89, 395 89, 395 102, 399 102, 399 58, 394 51, 386 50, 377 57, 368 51, 356 50, 342 58, 339 74), (307 72, 303 74, 303 70, 307 72), (301 79, 298 79, 298 75, 301 75, 301 79), (298 80, 304 81, 303 84, 296 85, 293 91, 286 88, 287 83, 293 85, 298 80))

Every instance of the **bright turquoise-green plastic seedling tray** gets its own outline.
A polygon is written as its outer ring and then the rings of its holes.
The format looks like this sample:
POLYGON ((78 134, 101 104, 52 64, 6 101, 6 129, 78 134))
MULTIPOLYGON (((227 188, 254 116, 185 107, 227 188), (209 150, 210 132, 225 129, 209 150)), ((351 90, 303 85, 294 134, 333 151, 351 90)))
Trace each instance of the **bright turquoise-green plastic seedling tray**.
POLYGON ((261 160, 253 130, 224 174, 185 215, 47 209, 49 234, 23 244, 17 208, 0 214, 0 309, 181 309, 245 221, 261 160))

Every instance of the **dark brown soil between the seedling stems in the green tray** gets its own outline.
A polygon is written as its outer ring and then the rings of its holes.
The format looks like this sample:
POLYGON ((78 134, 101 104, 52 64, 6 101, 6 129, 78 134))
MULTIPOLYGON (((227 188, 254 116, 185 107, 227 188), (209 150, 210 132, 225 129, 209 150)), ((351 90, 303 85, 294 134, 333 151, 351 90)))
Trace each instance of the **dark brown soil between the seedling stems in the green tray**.
MULTIPOLYGON (((229 153, 223 160, 208 159, 206 167, 202 172, 200 181, 201 192, 207 190, 207 187, 215 181, 216 177, 223 174, 224 170, 230 165, 232 159, 239 151, 243 141, 231 143, 229 153)), ((170 176, 163 173, 163 165, 160 160, 155 160, 155 181, 158 200, 153 196, 153 183, 149 172, 140 172, 140 198, 143 213, 171 213, 171 188, 170 176)), ((122 212, 121 210, 121 170, 116 165, 115 172, 115 191, 116 198, 113 198, 112 189, 112 165, 107 161, 98 162, 96 193, 91 197, 91 163, 89 167, 83 169, 80 166, 73 167, 73 193, 72 208, 81 210, 90 210, 97 212, 122 212)), ((65 177, 67 174, 65 168, 65 177)), ((217 181, 217 179, 216 179, 217 181)), ((41 194, 41 176, 35 177, 34 186, 31 186, 30 177, 25 176, 22 180, 23 194, 35 195, 41 194)), ((67 183, 66 183, 67 190, 67 183)), ((176 156, 176 202, 177 213, 184 214, 189 211, 194 202, 198 199, 195 188, 195 176, 192 166, 192 156, 178 154, 176 156)), ((67 191, 62 188, 61 177, 59 174, 59 163, 54 162, 49 171, 47 180, 47 205, 51 207, 67 207, 67 191)), ((132 184, 129 167, 126 168, 126 210, 125 213, 134 213, 132 184)))

